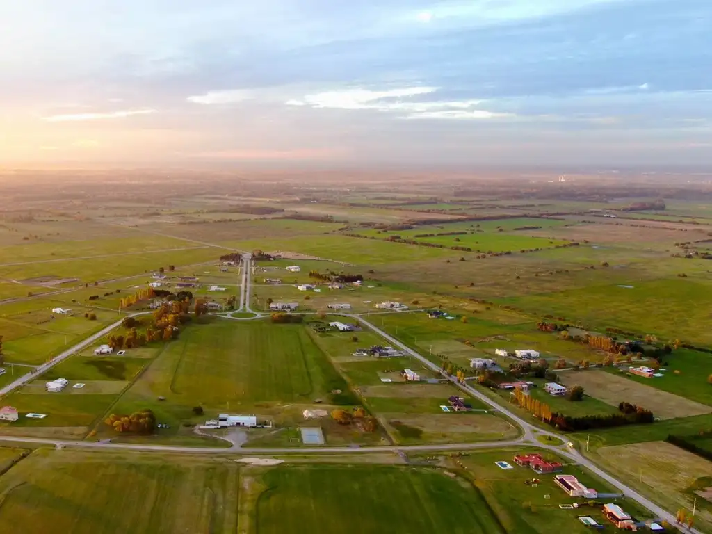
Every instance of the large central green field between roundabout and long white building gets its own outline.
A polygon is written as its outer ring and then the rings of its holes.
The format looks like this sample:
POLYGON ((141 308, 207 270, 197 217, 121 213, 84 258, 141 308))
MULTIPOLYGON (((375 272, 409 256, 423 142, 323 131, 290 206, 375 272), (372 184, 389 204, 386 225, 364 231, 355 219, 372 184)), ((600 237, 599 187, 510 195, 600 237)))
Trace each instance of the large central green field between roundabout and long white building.
POLYGON ((117 402, 115 413, 150 407, 160 421, 177 427, 226 411, 271 417, 280 406, 310 405, 318 398, 357 404, 304 325, 214 318, 190 325, 179 339, 156 350, 157 357, 117 402), (205 416, 196 418, 191 410, 199 405, 205 416))

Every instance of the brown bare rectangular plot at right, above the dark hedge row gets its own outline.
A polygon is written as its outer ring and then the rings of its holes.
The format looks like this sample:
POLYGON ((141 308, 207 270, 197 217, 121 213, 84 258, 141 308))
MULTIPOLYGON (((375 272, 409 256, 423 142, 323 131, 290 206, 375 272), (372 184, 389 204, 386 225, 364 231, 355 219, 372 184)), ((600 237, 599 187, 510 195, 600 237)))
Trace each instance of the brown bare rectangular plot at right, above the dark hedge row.
POLYGON ((563 384, 567 386, 580 384, 584 387, 587 395, 612 406, 618 406, 624 401, 630 402, 651 410, 655 417, 660 419, 689 417, 712 412, 712 407, 605 371, 564 371, 560 372, 559 376, 563 384))

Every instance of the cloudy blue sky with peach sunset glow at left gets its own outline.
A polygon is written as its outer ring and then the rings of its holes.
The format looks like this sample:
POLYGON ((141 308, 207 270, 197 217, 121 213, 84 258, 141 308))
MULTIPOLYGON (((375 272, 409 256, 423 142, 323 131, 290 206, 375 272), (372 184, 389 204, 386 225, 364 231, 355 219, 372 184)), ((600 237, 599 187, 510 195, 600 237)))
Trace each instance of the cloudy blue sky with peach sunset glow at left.
POLYGON ((0 166, 712 164, 710 0, 0 0, 0 166))

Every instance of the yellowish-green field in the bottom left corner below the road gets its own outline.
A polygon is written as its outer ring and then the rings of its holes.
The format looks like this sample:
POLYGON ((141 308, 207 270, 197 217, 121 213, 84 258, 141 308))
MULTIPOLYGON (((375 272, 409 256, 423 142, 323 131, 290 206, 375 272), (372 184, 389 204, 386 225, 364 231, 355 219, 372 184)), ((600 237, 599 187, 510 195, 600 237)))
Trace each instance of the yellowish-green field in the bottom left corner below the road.
POLYGON ((240 492, 224 460, 41 449, 0 477, 0 533, 235 532, 240 492))

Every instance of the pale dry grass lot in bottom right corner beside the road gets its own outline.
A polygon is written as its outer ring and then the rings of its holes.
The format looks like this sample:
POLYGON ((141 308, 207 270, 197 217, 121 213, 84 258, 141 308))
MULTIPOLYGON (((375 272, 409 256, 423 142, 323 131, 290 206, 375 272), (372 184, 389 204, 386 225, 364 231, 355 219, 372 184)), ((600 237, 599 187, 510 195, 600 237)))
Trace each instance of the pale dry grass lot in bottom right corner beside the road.
POLYGON ((691 510, 697 497, 696 526, 712 531, 712 503, 702 496, 712 488, 711 461, 664 441, 602 447, 596 454, 596 460, 614 475, 626 476, 639 491, 670 510, 691 510))

